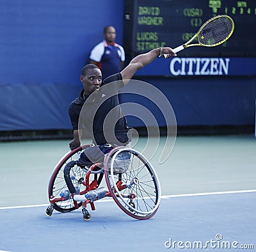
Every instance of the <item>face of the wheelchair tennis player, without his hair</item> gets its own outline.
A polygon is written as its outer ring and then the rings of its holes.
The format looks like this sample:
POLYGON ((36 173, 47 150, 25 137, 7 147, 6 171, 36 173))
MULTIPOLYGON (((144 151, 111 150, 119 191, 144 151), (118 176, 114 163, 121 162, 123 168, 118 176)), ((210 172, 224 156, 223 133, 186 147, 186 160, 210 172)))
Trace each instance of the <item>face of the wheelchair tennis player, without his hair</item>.
POLYGON ((90 95, 95 90, 99 90, 101 82, 102 82, 102 75, 99 69, 88 69, 86 75, 81 75, 80 77, 81 82, 83 83, 84 93, 86 95, 90 95))

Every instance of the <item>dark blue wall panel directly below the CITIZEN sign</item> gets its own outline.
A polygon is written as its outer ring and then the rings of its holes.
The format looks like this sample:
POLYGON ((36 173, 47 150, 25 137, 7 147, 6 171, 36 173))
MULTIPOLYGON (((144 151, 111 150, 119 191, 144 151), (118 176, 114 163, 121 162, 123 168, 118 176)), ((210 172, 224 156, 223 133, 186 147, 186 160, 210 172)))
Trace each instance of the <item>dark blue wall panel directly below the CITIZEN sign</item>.
POLYGON ((143 81, 166 95, 178 125, 255 123, 256 77, 144 77, 143 81))

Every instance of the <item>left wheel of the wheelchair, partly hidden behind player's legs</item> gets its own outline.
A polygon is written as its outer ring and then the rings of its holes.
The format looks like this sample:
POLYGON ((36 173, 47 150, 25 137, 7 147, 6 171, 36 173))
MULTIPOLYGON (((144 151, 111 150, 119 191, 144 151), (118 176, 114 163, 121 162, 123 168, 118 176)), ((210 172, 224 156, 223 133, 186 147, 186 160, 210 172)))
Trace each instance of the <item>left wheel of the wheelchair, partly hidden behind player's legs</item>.
MULTIPOLYGON (((60 198, 60 193, 64 192, 65 190, 68 190, 68 187, 66 185, 65 178, 64 178, 63 169, 65 168, 68 162, 76 161, 77 159, 79 159, 80 152, 83 150, 83 148, 87 146, 88 145, 79 146, 78 148, 68 152, 62 157, 62 159, 60 159, 58 164, 56 164, 48 185, 49 200, 52 197, 60 198)), ((75 165, 70 170, 70 174, 74 174, 74 173, 76 173, 77 177, 83 179, 85 178, 86 170, 81 169, 80 166, 75 165)), ((79 184, 77 180, 73 181, 73 184, 75 187, 78 187, 79 191, 83 191, 85 188, 84 185, 79 184)), ((78 207, 81 207, 82 202, 77 202, 77 203, 78 203, 78 207)), ((76 209, 74 205, 74 201, 72 199, 56 202, 54 203, 53 207, 58 212, 70 212, 76 209)))

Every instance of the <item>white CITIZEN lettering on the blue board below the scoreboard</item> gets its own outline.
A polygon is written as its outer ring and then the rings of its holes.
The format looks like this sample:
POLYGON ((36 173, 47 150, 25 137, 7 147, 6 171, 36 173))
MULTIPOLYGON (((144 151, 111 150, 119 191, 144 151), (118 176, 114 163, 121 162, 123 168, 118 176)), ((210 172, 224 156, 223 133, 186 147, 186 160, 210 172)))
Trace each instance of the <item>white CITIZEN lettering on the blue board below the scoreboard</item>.
POLYGON ((172 75, 228 75, 229 58, 173 58, 172 75))

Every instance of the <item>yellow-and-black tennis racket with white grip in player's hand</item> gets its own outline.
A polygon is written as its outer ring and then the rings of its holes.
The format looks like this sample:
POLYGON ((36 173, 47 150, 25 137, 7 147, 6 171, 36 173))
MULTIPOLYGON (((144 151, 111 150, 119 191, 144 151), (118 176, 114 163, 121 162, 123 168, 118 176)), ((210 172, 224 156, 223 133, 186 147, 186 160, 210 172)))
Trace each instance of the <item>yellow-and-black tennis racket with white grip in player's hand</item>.
POLYGON ((204 46, 214 47, 224 43, 230 38, 235 25, 231 17, 227 15, 218 15, 205 22, 198 32, 184 45, 173 49, 173 52, 179 52, 187 47, 204 46), (198 43, 191 43, 197 38, 198 43), (190 44, 191 43, 191 44, 190 44))

